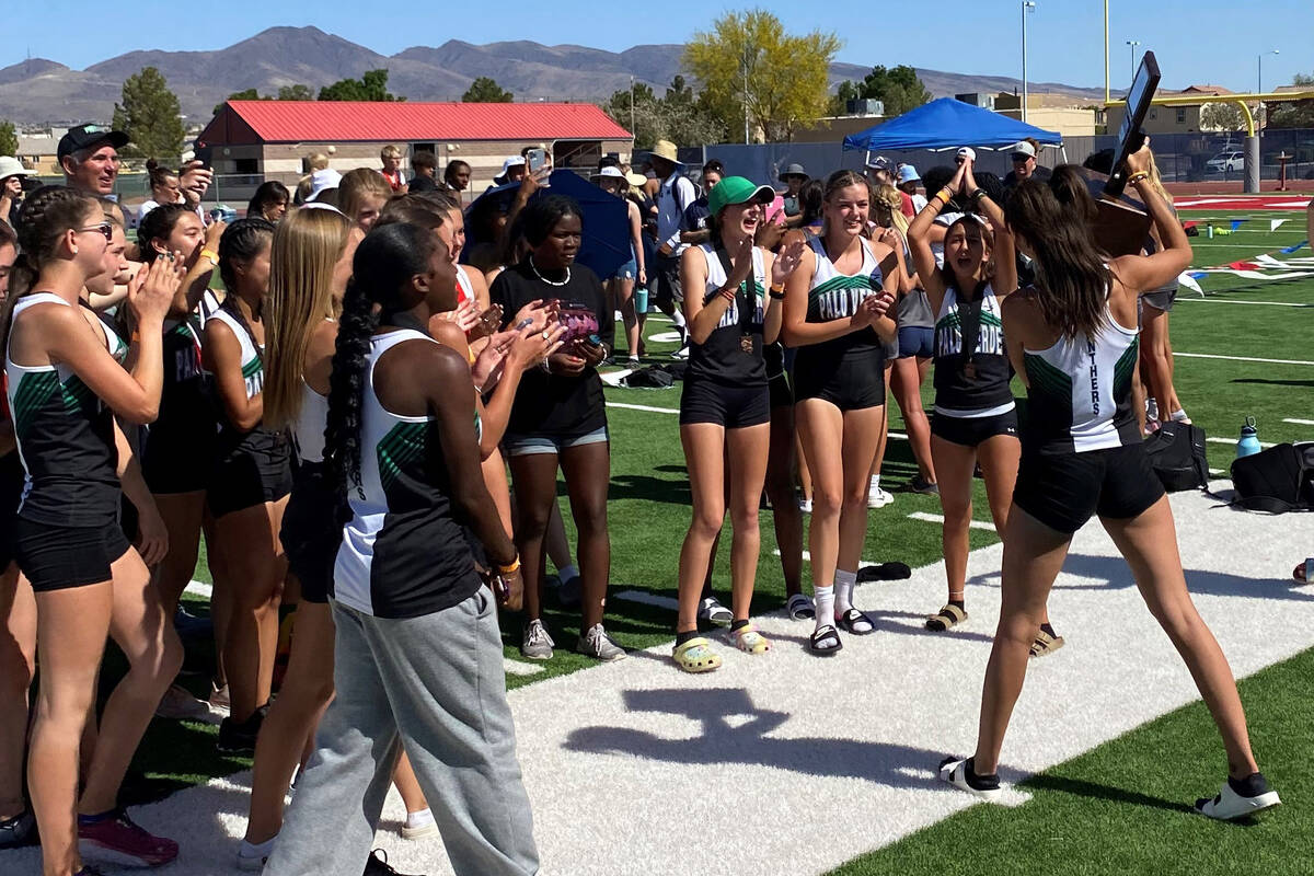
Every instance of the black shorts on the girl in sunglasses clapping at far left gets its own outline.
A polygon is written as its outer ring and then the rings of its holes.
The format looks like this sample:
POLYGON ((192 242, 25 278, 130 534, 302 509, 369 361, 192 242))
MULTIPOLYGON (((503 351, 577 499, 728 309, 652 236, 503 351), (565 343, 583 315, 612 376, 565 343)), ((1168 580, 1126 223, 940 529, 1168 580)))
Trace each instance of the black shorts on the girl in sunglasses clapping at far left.
POLYGON ((37 592, 84 587, 113 577, 110 565, 131 549, 118 520, 100 527, 57 527, 18 517, 14 553, 37 592))

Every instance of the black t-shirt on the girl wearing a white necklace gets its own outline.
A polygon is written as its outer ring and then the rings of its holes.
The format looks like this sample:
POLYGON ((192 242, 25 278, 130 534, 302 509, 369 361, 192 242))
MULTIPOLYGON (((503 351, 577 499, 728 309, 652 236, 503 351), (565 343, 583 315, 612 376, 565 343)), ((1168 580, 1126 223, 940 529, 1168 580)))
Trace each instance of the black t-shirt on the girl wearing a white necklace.
MULTIPOLYGON (((502 305, 503 326, 510 324, 520 307, 535 299, 557 298, 561 305, 579 306, 598 318, 598 336, 611 338, 615 314, 607 306, 602 282, 589 268, 570 267, 564 286, 553 286, 535 276, 526 259, 497 276, 489 289, 493 303, 502 305)), ((602 378, 595 368, 585 368, 578 377, 548 374, 541 368, 524 373, 511 406, 509 435, 581 436, 607 426, 602 378)))

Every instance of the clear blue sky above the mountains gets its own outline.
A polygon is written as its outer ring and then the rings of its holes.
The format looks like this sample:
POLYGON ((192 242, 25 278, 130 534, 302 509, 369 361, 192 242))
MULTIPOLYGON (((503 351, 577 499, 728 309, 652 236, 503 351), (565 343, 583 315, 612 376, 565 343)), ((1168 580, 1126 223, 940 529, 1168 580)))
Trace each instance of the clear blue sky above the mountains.
MULTIPOLYGON (((622 50, 636 43, 683 42, 706 28, 717 7, 706 0, 611 4, 597 0, 501 0, 495 4, 397 3, 382 7, 359 0, 313 4, 231 0, 160 3, 97 8, 85 1, 9 3, 0 67, 25 54, 83 68, 134 49, 221 49, 273 25, 307 25, 335 33, 385 55, 413 45, 438 46, 449 38, 473 43, 499 39, 578 43, 622 50), (305 12, 313 8, 313 17, 305 12), (478 9, 466 16, 452 9, 478 9), (547 11, 551 8, 551 13, 547 11), (363 16, 361 11, 368 9, 363 16), (648 9, 652 13, 640 16, 648 9), (386 17, 376 14, 386 12, 386 17)), ((1021 75, 1021 0, 941 0, 887 3, 763 1, 792 32, 833 30, 844 41, 838 60, 857 64, 900 63, 964 74, 1021 75), (961 24, 957 24, 961 22, 961 24), (887 37, 874 37, 882 26, 887 37)), ((1310 0, 1110 0, 1109 43, 1113 88, 1130 77, 1127 39, 1154 49, 1164 85, 1215 83, 1234 91, 1255 88, 1256 55, 1264 58, 1269 87, 1314 72, 1314 3, 1310 0)), ((1033 81, 1104 84, 1102 0, 1038 0, 1029 16, 1028 76, 1033 81)))

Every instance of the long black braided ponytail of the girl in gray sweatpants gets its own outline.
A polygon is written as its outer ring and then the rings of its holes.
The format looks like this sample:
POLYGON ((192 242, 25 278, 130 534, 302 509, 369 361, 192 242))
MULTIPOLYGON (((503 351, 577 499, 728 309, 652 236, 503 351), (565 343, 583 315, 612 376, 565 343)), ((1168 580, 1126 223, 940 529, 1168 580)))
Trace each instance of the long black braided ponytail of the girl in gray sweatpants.
POLYGON ((401 293, 411 277, 428 271, 439 243, 430 229, 405 222, 371 229, 356 248, 352 276, 342 301, 338 343, 328 377, 328 420, 325 427, 325 464, 340 499, 339 523, 351 516, 348 485, 361 494, 361 407, 369 340, 380 315, 402 309, 401 293))

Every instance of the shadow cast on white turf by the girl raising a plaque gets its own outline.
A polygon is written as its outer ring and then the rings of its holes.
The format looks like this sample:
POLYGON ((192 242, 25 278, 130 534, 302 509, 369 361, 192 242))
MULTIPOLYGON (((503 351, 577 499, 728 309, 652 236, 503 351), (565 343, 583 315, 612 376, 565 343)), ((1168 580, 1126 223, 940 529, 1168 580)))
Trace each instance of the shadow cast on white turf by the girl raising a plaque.
POLYGON ((790 714, 753 705, 742 688, 625 691, 629 712, 679 714, 702 722, 696 738, 669 738, 616 726, 579 728, 568 751, 624 754, 670 763, 742 763, 815 776, 865 779, 892 788, 936 788, 942 754, 888 742, 832 737, 777 738, 790 714), (744 718, 748 717, 748 721, 744 718), (731 718, 737 718, 731 722, 731 718))

